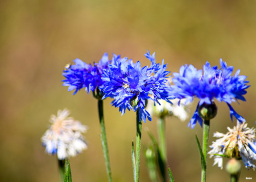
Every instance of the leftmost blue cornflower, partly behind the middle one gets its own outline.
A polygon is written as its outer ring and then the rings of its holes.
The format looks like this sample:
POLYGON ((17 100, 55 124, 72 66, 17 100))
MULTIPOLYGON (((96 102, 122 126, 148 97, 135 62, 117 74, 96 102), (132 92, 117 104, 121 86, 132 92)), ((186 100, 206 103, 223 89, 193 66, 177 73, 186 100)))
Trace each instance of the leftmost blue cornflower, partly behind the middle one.
POLYGON ((62 80, 63 86, 69 86, 68 91, 75 90, 74 94, 81 88, 86 88, 87 92, 94 92, 103 81, 101 74, 103 69, 108 68, 108 64, 111 62, 107 53, 103 55, 99 63, 93 65, 87 64, 80 59, 75 59, 72 65, 66 66, 62 75, 66 77, 66 80, 62 80))

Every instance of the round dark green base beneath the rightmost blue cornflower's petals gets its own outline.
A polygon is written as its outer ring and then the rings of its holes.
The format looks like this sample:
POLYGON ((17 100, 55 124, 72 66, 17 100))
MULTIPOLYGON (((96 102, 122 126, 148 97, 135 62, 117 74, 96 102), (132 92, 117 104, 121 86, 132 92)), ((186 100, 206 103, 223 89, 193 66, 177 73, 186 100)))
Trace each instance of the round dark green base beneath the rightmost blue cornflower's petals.
POLYGON ((211 102, 210 105, 208 103, 203 103, 199 106, 198 113, 204 120, 210 120, 217 115, 217 106, 214 102, 211 102))

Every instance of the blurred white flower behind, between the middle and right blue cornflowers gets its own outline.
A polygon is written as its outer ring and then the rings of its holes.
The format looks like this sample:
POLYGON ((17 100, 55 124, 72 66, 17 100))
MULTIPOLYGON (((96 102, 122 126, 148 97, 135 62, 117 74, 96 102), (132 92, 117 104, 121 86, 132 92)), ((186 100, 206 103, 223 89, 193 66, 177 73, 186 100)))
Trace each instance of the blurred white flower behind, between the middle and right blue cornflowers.
POLYGON ((156 115, 158 117, 175 116, 180 120, 184 121, 188 118, 189 104, 185 105, 185 99, 181 99, 179 105, 179 100, 180 99, 173 99, 173 105, 165 100, 158 100, 160 102, 160 105, 156 106, 154 106, 154 102, 152 100, 148 100, 147 111, 151 115, 156 115))

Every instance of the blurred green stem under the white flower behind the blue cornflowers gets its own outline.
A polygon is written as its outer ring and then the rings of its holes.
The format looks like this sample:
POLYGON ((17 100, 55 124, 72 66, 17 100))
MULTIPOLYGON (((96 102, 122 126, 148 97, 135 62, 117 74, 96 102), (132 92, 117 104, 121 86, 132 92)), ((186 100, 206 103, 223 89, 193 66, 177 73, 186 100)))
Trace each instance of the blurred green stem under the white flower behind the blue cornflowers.
POLYGON ((166 155, 166 140, 165 140, 165 121, 163 117, 159 117, 157 121, 157 129, 158 129, 158 135, 159 135, 159 141, 160 141, 160 157, 162 159, 162 177, 163 181, 166 181, 166 176, 165 176, 165 170, 166 170, 166 163, 167 163, 167 155, 166 155))

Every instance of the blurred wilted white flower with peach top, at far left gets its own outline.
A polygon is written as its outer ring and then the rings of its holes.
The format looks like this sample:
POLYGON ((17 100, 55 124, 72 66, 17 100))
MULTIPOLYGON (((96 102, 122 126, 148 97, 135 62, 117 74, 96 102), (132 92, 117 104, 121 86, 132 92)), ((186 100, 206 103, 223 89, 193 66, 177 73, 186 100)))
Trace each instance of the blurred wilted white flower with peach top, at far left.
POLYGON ((59 110, 57 116, 52 115, 50 122, 52 125, 42 136, 42 145, 46 147, 49 154, 57 153, 59 160, 74 157, 82 150, 87 149, 82 133, 86 133, 87 126, 68 117, 70 111, 59 110))

